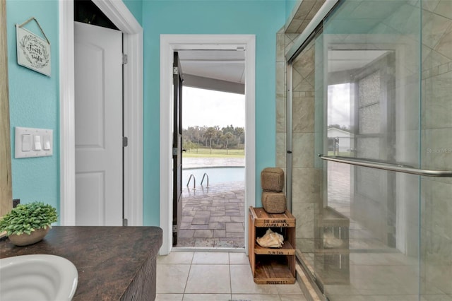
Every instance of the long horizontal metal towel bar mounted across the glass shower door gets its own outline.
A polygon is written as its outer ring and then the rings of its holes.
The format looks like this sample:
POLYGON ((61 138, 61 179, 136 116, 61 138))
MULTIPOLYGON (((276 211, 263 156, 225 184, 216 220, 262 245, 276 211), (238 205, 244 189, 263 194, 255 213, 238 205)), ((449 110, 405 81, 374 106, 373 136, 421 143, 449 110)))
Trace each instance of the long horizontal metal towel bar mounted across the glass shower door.
POLYGON ((371 160, 364 160, 360 158, 348 158, 334 155, 319 154, 319 157, 323 160, 345 163, 357 166, 364 166, 370 168, 378 168, 379 170, 390 170, 393 172, 405 172, 412 175, 422 175, 426 177, 452 177, 451 170, 421 170, 415 167, 407 165, 399 165, 393 163, 382 163, 371 160))

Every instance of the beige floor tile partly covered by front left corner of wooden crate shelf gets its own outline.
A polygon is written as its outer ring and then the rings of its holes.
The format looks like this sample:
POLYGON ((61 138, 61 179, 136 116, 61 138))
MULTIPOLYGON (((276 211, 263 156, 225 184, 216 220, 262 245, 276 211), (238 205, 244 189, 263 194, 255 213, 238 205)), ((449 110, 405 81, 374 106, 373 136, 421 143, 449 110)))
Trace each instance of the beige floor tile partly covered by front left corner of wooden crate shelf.
POLYGON ((232 294, 276 294, 275 285, 254 283, 251 267, 246 264, 230 265, 232 294))

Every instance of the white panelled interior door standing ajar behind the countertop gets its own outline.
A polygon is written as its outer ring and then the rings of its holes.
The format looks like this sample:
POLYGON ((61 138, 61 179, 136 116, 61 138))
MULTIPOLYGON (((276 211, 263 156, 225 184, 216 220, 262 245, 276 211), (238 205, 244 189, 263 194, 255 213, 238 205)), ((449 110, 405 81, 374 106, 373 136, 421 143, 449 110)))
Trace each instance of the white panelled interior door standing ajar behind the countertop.
POLYGON ((122 225, 122 34, 75 22, 76 225, 122 225))

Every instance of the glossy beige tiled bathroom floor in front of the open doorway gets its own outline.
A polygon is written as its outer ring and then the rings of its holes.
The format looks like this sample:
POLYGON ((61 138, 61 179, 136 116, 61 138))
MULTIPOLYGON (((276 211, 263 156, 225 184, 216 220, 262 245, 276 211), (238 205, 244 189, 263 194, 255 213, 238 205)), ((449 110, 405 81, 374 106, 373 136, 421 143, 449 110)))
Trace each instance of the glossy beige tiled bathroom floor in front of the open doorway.
POLYGON ((258 285, 239 252, 172 252, 157 257, 157 301, 306 301, 297 283, 258 285))

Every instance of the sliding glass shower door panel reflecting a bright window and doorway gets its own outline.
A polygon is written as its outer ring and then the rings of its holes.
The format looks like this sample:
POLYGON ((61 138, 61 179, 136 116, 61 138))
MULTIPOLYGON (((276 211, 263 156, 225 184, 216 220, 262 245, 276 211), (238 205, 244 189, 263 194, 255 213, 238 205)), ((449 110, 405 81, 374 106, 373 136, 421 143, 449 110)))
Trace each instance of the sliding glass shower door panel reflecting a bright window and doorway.
MULTIPOLYGON (((420 88, 413 87, 420 83, 420 9, 410 10, 417 23, 409 30, 393 24, 391 16, 408 6, 408 1, 345 1, 323 23, 324 126, 336 146, 323 154, 419 167, 420 88)), ((314 270, 338 276, 321 277, 325 295, 330 300, 416 299, 418 177, 324 164, 328 214, 319 220, 327 226, 320 230, 323 253, 314 270)))

